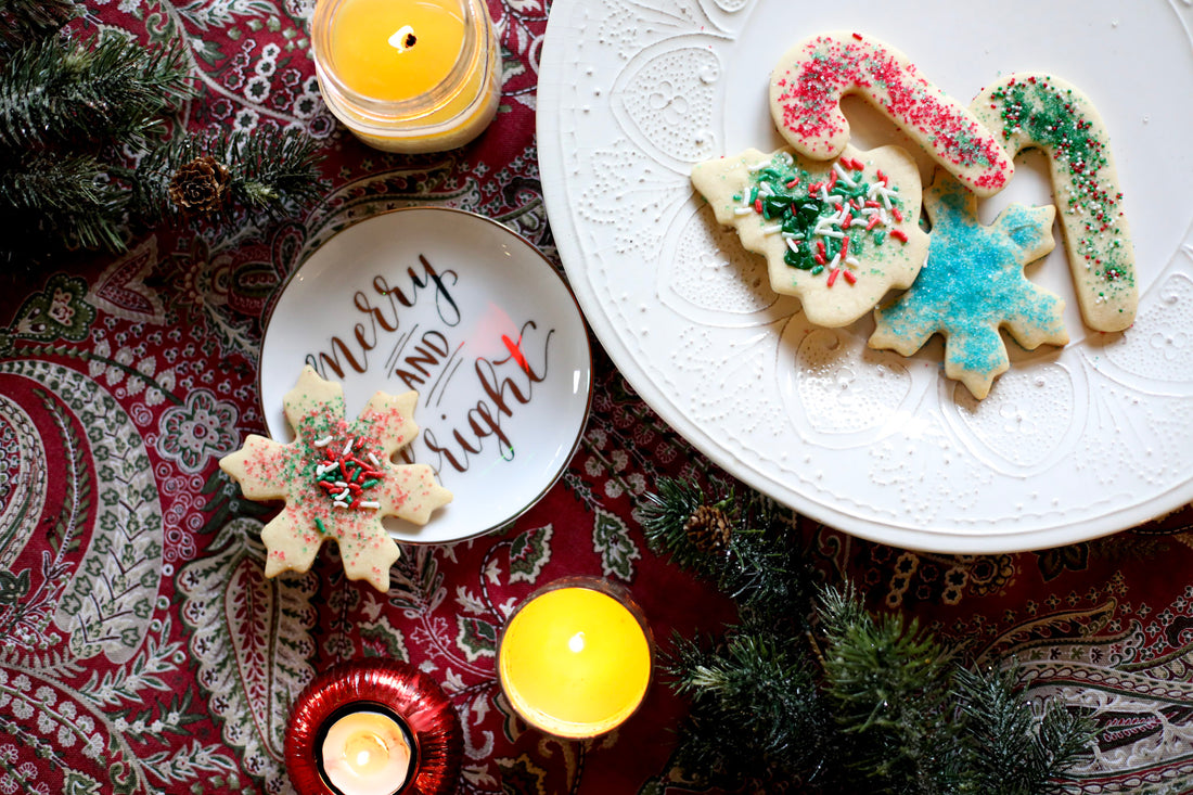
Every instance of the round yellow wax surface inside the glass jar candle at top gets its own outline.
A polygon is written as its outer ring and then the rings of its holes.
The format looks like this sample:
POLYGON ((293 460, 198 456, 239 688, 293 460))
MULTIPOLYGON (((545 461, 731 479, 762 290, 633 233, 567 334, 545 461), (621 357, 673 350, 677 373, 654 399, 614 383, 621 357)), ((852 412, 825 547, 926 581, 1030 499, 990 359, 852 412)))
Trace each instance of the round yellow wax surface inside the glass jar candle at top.
POLYGON ((439 85, 463 45, 458 0, 348 0, 330 33, 330 60, 350 90, 401 101, 439 85))

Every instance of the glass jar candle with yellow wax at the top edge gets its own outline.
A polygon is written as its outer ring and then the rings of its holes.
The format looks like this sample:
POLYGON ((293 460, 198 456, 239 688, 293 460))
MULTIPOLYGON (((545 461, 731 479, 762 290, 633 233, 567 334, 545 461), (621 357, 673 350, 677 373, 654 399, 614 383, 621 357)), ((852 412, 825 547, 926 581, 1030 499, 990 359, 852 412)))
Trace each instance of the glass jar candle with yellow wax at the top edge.
POLYGON ((497 111, 501 48, 484 0, 316 0, 310 37, 323 101, 377 149, 453 149, 497 111))

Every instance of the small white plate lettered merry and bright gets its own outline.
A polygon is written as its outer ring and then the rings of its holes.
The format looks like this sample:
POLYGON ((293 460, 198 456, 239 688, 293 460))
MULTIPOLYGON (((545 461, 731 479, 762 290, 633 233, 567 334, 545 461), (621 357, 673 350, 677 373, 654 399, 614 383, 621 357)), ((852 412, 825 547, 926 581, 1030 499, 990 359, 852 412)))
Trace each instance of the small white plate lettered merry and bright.
POLYGON ((571 460, 592 401, 588 337, 560 275, 500 223, 444 208, 361 221, 291 276, 261 345, 276 439, 293 438, 282 399, 305 363, 342 382, 350 417, 378 390, 419 393, 410 458, 455 499, 421 528, 387 519, 404 543, 469 538, 523 513, 571 460))

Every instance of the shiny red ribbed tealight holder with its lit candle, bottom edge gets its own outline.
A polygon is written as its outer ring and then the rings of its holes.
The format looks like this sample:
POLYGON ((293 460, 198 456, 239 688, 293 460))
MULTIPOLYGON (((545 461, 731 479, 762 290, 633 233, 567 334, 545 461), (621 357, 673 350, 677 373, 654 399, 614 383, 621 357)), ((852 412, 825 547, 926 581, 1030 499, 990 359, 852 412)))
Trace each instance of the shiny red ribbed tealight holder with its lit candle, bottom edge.
POLYGON ((298 695, 286 772, 299 795, 446 795, 463 733, 443 689, 397 660, 342 662, 298 695))

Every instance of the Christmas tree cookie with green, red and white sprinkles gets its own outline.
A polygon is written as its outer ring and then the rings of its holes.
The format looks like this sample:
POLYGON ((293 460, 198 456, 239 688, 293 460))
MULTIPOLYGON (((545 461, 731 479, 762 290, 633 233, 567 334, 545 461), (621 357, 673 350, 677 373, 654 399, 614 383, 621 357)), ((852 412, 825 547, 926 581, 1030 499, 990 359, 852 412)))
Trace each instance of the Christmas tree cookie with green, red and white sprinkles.
POLYGON ((900 147, 849 146, 830 162, 747 149, 697 164, 692 184, 766 257, 771 288, 820 326, 846 326, 910 285, 928 254, 920 172, 900 147))

